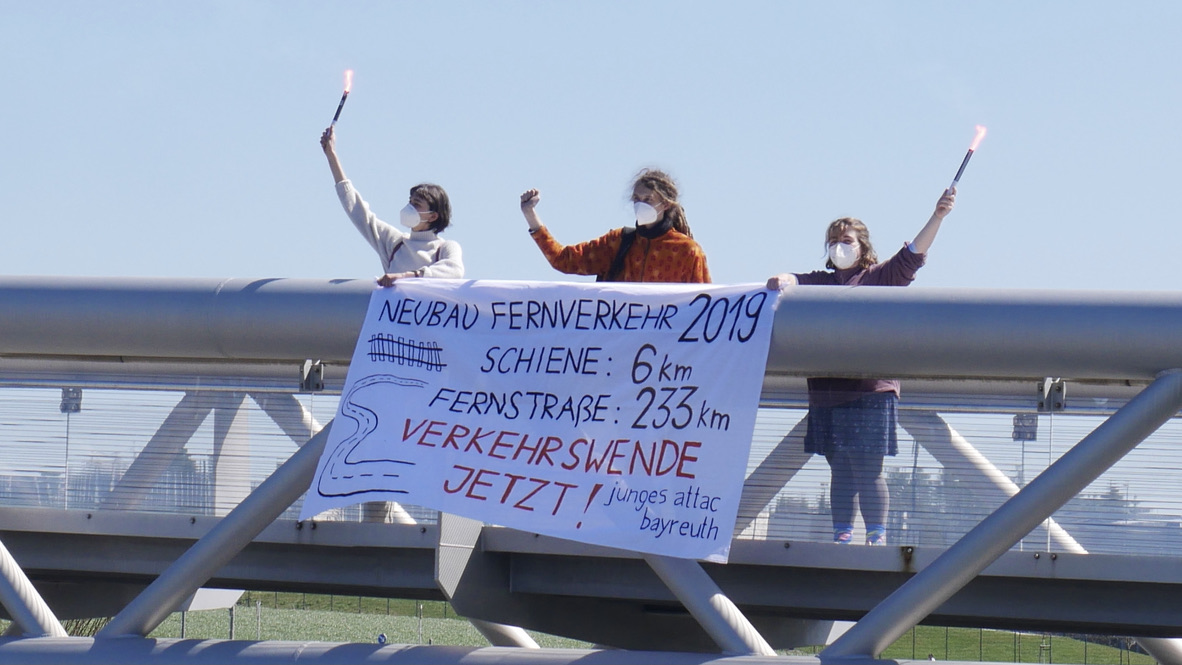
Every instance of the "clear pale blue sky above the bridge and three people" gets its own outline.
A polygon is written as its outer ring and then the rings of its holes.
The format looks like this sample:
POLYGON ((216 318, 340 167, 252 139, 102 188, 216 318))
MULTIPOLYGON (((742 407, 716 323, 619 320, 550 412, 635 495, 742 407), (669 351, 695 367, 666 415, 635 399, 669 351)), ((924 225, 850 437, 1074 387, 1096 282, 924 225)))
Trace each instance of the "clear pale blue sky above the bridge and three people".
POLYGON ((1173 2, 6 2, 0 265, 20 275, 370 278, 318 145, 379 215, 442 184, 469 278, 566 280, 671 171, 717 282, 910 240, 989 133, 916 282, 1173 289, 1173 2))

